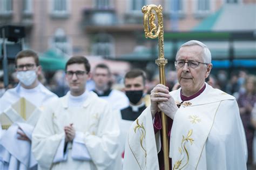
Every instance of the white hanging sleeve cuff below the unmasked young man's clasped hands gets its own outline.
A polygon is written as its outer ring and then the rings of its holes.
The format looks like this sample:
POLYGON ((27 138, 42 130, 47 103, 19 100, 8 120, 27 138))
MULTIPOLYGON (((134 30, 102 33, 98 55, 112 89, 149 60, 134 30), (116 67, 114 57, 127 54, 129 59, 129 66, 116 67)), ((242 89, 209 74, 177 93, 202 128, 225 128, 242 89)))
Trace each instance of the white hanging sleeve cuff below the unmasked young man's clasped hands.
POLYGON ((91 156, 84 143, 83 132, 76 132, 75 139, 73 140, 71 157, 75 160, 91 160, 91 156))

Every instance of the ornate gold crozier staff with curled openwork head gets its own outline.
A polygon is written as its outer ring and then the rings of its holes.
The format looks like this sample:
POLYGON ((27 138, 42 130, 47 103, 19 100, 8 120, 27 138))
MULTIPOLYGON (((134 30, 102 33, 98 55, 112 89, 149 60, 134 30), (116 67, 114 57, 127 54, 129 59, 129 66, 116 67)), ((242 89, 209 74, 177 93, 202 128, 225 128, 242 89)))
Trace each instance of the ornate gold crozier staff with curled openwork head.
MULTIPOLYGON (((164 24, 162 6, 159 5, 146 5, 143 6, 142 12, 144 13, 144 31, 146 38, 158 37, 158 51, 159 56, 156 59, 156 64, 159 67, 160 83, 165 85, 165 71, 164 66, 167 64, 167 59, 164 58, 164 24), (155 11, 155 12, 153 12, 155 11), (158 26, 154 23, 158 19, 158 26), (148 19, 149 18, 149 19, 148 19), (149 24, 149 26, 148 26, 149 24), (149 29, 150 28, 150 29, 149 29)), ((164 112, 161 112, 163 124, 163 149, 164 149, 164 169, 169 170, 169 147, 167 139, 167 117, 164 112)))

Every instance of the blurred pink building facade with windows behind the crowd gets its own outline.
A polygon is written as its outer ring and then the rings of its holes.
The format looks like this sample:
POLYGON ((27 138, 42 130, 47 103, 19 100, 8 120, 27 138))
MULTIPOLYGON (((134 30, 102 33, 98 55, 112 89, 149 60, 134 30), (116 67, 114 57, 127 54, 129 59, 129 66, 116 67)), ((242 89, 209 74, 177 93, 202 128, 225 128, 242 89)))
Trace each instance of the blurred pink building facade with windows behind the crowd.
POLYGON ((143 5, 163 6, 165 31, 189 31, 227 3, 255 1, 0 0, 0 24, 25 26, 26 47, 38 52, 118 58, 143 43, 143 5))

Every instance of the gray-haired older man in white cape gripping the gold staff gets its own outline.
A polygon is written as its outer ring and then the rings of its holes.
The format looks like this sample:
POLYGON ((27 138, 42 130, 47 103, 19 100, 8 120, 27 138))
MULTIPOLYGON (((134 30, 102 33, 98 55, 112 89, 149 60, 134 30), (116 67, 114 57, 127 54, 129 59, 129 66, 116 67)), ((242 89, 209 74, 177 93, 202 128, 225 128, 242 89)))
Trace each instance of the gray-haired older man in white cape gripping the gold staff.
POLYGON ((186 42, 175 66, 181 87, 169 92, 158 84, 151 91, 151 106, 130 128, 123 169, 164 169, 160 111, 167 115, 170 169, 246 169, 237 101, 205 83, 212 69, 208 47, 197 40, 186 42))

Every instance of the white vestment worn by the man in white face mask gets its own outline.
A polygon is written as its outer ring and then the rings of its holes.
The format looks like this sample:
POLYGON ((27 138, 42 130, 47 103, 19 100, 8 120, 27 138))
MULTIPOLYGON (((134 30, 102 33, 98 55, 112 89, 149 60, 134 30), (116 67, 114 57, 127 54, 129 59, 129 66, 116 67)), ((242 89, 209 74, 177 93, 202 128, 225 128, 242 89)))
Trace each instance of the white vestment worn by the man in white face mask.
POLYGON ((29 141, 17 139, 19 136, 17 131, 19 131, 18 128, 21 128, 22 132, 31 140, 33 127, 37 123, 43 105, 58 98, 41 83, 32 90, 26 90, 28 91, 26 96, 22 96, 21 89, 21 84, 18 84, 14 89, 6 91, 0 99, 0 114, 5 113, 14 123, 8 130, 2 130, 2 127, 0 130, 0 169, 36 169, 37 162, 31 154, 31 144, 29 141), (29 98, 30 102, 36 106, 28 120, 24 120, 12 108, 12 104, 21 97, 29 98), (33 98, 35 100, 32 100, 33 98))

